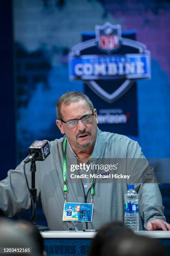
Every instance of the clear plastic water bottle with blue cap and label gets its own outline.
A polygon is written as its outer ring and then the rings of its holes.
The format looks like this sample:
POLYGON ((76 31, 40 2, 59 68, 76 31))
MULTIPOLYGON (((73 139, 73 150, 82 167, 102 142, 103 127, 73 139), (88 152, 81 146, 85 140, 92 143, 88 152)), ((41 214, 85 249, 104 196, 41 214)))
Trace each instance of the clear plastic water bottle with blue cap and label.
POLYGON ((133 231, 139 230, 138 193, 134 185, 128 185, 128 192, 124 195, 125 225, 133 231))

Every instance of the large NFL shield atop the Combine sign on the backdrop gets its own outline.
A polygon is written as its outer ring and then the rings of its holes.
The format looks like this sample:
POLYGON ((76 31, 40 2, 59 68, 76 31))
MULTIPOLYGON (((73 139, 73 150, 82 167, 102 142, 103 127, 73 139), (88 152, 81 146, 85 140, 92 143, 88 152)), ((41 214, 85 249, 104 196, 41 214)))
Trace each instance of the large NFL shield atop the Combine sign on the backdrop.
POLYGON ((120 47, 121 26, 106 22, 103 26, 95 26, 97 46, 101 51, 111 53, 120 47))

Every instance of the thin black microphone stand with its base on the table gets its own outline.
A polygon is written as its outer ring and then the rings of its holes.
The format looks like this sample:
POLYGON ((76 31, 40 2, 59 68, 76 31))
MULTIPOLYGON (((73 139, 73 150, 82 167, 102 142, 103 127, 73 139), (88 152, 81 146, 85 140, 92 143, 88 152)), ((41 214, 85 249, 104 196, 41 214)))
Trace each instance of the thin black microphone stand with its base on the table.
POLYGON ((38 230, 46 231, 46 230, 49 230, 48 227, 45 227, 45 226, 42 226, 42 225, 37 225, 37 223, 36 223, 37 189, 35 188, 35 172, 36 172, 35 160, 31 161, 30 172, 31 172, 31 188, 30 188, 30 192, 31 192, 31 195, 32 195, 32 198, 33 198, 33 202, 34 202, 34 205, 32 205, 32 200, 31 200, 31 216, 32 216, 33 209, 34 209, 34 214, 33 214, 32 218, 30 220, 30 223, 32 223, 33 225, 36 225, 36 228, 38 230))

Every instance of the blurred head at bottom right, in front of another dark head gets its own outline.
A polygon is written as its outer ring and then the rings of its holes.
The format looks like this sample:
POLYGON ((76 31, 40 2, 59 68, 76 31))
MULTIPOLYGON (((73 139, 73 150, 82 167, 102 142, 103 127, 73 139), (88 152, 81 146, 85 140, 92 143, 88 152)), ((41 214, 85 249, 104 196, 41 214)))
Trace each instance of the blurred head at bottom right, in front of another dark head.
POLYGON ((165 256, 166 249, 147 236, 125 236, 109 239, 101 248, 101 256, 165 256))

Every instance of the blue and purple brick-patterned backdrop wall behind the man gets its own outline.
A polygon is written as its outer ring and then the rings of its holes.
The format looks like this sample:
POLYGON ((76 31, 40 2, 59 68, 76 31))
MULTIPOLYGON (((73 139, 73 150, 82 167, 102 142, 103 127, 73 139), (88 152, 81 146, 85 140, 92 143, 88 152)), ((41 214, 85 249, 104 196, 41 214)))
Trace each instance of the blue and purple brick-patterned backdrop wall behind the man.
MULTIPOLYGON (((82 5, 78 0, 14 0, 17 163, 33 141, 61 137, 55 125, 58 97, 69 90, 85 92, 81 81, 69 80, 68 53, 80 43, 83 31, 94 32, 95 25, 107 21, 120 24, 122 31, 135 29, 137 41, 151 52, 152 78, 138 81, 138 137, 131 138, 138 140, 147 157, 170 157, 170 3, 85 0, 82 5)), ((93 101, 95 95, 91 97, 93 101)), ((169 189, 168 184, 161 184, 170 221, 169 189)))

